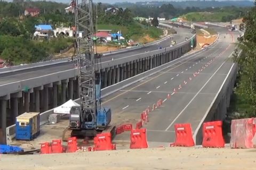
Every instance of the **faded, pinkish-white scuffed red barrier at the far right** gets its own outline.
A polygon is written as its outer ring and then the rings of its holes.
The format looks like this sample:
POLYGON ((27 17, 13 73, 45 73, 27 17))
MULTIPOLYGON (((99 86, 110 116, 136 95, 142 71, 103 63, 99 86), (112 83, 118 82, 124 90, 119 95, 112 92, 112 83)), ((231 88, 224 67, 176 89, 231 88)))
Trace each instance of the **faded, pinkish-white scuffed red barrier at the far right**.
POLYGON ((255 134, 253 118, 231 121, 231 148, 253 148, 252 139, 255 134))

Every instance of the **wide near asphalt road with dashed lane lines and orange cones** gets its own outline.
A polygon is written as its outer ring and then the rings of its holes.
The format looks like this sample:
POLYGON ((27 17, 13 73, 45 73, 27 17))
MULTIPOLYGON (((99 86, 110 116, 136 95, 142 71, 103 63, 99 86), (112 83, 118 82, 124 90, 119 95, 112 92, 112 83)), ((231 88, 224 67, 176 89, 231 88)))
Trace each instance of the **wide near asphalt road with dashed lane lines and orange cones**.
MULTIPOLYGON (((223 28, 218 31, 218 42, 208 50, 105 98, 102 104, 111 107, 113 123, 134 123, 148 106, 152 108, 158 99, 163 99, 164 103, 150 112, 149 123, 144 125, 148 141, 174 142, 176 123, 191 123, 194 132, 233 64, 233 35, 226 34, 223 28)), ((129 140, 130 135, 116 138, 129 140)))

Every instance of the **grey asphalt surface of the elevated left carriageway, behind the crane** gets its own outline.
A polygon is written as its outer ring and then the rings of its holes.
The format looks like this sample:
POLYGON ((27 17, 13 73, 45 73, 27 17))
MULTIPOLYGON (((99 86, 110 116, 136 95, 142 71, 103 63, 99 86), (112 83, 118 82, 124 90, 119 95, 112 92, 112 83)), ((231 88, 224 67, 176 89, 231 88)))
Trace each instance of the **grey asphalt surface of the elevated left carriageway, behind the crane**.
MULTIPOLYGON (((180 28, 177 29, 177 35, 173 36, 173 40, 177 40, 177 43, 181 43, 182 41, 185 41, 185 37, 191 37, 193 34, 189 33, 189 29, 185 28, 180 28)), ((169 47, 171 43, 171 38, 168 38, 160 43, 159 46, 161 47, 169 47)), ((131 56, 135 54, 140 54, 140 53, 145 53, 149 52, 151 50, 156 50, 159 47, 158 45, 151 45, 148 47, 143 47, 137 50, 130 50, 124 53, 118 53, 118 54, 113 54, 113 55, 107 55, 102 57, 101 62, 105 61, 110 61, 112 58, 121 58, 125 56, 131 56)), ((65 70, 70 70, 74 69, 74 64, 73 63, 61 63, 61 64, 54 64, 54 65, 49 65, 49 66, 44 66, 44 67, 37 67, 34 69, 29 69, 29 70, 23 70, 19 72, 14 72, 14 73, 4 73, 1 74, 0 76, 0 85, 6 84, 6 83, 11 83, 15 81, 21 81, 21 80, 26 80, 30 78, 35 78, 35 77, 40 77, 42 75, 47 75, 51 73, 56 73, 59 71, 65 71, 65 70)))

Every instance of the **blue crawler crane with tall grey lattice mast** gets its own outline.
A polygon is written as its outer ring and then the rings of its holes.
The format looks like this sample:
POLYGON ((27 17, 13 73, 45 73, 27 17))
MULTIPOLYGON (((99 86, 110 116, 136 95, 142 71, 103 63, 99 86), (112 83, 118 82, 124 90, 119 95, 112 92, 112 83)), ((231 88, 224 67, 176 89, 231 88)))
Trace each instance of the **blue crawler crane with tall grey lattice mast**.
MULTIPOLYGON (((69 137, 94 137, 102 131, 115 134, 115 126, 110 126, 111 109, 101 107, 100 55, 94 54, 95 32, 92 0, 73 0, 70 3, 75 13, 76 24, 76 62, 79 82, 79 106, 70 109, 69 126, 62 135, 62 140, 69 137), (83 36, 78 36, 83 31, 83 36)), ((96 49, 97 50, 97 49, 96 49)))

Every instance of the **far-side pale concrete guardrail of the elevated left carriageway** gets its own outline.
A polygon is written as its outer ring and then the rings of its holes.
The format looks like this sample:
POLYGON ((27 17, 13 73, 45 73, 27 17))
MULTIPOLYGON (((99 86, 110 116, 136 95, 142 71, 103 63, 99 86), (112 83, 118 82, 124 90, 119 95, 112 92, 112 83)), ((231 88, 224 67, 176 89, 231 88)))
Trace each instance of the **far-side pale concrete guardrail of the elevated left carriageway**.
MULTIPOLYGON (((169 25, 169 27, 170 27, 170 25, 169 25)), ((140 48, 147 47, 147 46, 150 46, 150 45, 155 44, 155 43, 159 43, 159 42, 164 41, 165 39, 170 38, 170 37, 171 37, 171 35, 166 36, 166 37, 164 37, 162 39, 159 39, 157 41, 148 43, 146 45, 136 46, 136 47, 132 47, 132 48, 125 48, 125 49, 118 49, 118 50, 112 51, 111 53, 110 52, 104 52, 102 54, 104 54, 106 56, 106 55, 111 55, 111 54, 128 52, 130 50, 140 49, 140 48)), ((43 67, 43 66, 47 66, 47 65, 65 63, 65 62, 68 62, 68 60, 69 60, 68 58, 61 58, 61 59, 51 60, 51 61, 44 61, 44 62, 37 62, 37 63, 30 63, 30 64, 6 67, 6 68, 0 69, 0 74, 15 72, 15 71, 21 71, 21 70, 27 70, 27 69, 33 69, 35 67, 43 67)))

